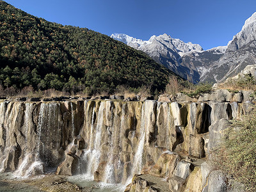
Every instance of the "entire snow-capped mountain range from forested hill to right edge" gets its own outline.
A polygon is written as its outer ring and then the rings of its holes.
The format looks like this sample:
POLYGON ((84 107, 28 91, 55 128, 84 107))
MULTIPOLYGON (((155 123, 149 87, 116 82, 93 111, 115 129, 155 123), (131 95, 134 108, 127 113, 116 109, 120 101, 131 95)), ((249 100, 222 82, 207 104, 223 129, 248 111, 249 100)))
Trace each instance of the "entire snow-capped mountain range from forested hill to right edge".
POLYGON ((206 51, 198 44, 185 43, 166 34, 151 36, 147 41, 118 33, 111 37, 146 52, 158 63, 194 83, 224 81, 247 65, 256 64, 256 12, 228 45, 206 51))

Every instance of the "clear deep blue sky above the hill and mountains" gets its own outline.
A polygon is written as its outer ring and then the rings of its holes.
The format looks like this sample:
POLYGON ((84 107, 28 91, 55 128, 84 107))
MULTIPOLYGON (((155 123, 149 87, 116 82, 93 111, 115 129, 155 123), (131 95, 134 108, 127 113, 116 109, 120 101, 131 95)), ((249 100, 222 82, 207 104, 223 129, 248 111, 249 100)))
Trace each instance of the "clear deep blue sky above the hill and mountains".
POLYGON ((227 45, 256 12, 255 0, 6 0, 37 17, 142 40, 167 33, 203 49, 227 45))

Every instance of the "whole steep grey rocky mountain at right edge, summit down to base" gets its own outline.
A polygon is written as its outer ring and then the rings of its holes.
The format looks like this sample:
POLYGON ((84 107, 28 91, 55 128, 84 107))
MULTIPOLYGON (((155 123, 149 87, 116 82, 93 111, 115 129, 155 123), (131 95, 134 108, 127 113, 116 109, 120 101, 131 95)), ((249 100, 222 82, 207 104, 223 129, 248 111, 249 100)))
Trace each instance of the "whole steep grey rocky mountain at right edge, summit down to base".
POLYGON ((225 81, 253 64, 256 64, 256 12, 244 22, 241 31, 228 42, 220 60, 212 63, 200 80, 210 81, 214 77, 214 82, 225 81))

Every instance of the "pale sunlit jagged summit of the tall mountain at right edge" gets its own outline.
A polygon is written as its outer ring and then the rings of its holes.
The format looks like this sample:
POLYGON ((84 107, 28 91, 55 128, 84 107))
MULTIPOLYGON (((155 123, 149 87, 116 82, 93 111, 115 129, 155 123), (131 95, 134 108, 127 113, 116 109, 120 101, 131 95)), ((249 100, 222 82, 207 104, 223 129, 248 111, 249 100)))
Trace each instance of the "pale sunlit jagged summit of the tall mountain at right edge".
POLYGON ((242 30, 228 42, 227 51, 236 51, 256 38, 256 12, 252 14, 245 22, 242 30))

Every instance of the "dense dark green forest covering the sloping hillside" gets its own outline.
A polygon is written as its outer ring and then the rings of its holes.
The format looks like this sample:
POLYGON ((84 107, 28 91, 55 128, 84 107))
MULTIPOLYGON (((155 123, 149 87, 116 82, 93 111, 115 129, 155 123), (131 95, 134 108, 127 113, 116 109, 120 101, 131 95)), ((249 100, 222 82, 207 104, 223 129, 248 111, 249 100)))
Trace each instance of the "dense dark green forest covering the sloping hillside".
POLYGON ((4 88, 115 92, 163 90, 173 74, 146 54, 86 28, 63 26, 0 1, 0 83, 4 88))

